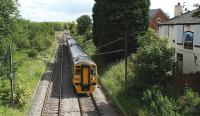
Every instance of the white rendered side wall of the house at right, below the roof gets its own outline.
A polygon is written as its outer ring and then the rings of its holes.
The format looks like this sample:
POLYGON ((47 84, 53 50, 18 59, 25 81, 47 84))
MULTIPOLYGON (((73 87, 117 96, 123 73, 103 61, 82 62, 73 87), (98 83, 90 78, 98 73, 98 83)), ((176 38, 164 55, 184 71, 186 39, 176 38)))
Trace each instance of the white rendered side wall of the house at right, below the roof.
POLYGON ((159 35, 169 38, 169 44, 177 53, 183 54, 183 73, 200 71, 200 24, 198 25, 161 25, 159 35), (183 34, 194 32, 193 50, 184 48, 183 34), (197 47, 195 47, 197 46, 197 47), (195 56, 197 57, 195 62, 195 56))

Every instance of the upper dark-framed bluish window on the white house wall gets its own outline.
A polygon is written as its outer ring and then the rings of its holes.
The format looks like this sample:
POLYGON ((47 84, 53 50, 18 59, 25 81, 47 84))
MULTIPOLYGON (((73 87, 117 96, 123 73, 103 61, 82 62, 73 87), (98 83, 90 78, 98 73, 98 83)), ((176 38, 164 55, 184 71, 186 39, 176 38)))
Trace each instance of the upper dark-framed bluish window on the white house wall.
POLYGON ((184 39, 185 49, 193 49, 193 38, 194 38, 194 32, 186 31, 184 33, 183 39, 184 39))

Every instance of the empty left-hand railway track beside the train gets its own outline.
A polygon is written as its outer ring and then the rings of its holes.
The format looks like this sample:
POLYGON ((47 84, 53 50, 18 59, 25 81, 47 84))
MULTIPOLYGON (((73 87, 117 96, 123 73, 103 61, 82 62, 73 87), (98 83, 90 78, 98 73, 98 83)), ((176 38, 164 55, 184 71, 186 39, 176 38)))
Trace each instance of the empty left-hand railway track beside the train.
POLYGON ((42 116, 62 115, 62 80, 63 80, 63 45, 59 46, 58 54, 55 58, 53 72, 49 79, 45 101, 43 104, 42 116))

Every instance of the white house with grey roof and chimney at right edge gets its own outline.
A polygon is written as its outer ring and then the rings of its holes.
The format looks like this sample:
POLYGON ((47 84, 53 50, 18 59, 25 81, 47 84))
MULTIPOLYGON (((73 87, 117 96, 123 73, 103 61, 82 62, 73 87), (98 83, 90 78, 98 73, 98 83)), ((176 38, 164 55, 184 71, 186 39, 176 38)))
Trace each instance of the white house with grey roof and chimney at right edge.
POLYGON ((178 4, 175 17, 159 24, 159 35, 169 38, 169 45, 176 49, 177 68, 183 74, 200 71, 200 18, 192 16, 197 10, 182 13, 178 4))

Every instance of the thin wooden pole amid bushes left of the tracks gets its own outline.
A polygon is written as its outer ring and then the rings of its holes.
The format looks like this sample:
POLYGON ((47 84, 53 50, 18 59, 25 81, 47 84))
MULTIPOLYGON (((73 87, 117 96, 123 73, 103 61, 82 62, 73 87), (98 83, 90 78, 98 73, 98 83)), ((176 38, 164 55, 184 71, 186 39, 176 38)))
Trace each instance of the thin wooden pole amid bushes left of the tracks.
POLYGON ((9 60, 10 60, 10 87, 11 87, 11 103, 14 107, 14 79, 13 79, 13 67, 12 67, 12 46, 9 45, 9 60))

